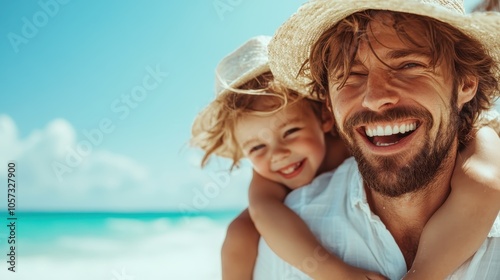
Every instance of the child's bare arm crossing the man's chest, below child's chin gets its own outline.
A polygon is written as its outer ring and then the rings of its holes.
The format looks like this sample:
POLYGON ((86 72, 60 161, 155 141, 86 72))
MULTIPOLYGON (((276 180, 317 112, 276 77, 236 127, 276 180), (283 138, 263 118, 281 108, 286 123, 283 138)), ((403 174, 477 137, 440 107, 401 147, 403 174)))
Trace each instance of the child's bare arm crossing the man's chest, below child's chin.
POLYGON ((250 215, 280 258, 314 279, 386 279, 378 273, 352 267, 324 249, 305 222, 283 204, 287 193, 286 187, 254 172, 249 193, 250 215), (318 265, 314 271, 304 265, 311 257, 318 265))

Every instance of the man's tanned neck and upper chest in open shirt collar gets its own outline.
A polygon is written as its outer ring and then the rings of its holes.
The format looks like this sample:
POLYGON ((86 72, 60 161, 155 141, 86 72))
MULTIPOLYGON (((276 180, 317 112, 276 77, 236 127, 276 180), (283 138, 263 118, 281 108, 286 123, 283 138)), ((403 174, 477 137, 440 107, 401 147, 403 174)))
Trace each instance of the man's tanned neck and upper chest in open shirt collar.
MULTIPOLYGON (((456 151, 456 149, 451 149, 456 151)), ((456 152, 451 152, 441 166, 441 172, 422 189, 394 198, 366 188, 372 212, 380 217, 396 240, 411 267, 417 253, 420 234, 434 212, 448 197, 456 152)))

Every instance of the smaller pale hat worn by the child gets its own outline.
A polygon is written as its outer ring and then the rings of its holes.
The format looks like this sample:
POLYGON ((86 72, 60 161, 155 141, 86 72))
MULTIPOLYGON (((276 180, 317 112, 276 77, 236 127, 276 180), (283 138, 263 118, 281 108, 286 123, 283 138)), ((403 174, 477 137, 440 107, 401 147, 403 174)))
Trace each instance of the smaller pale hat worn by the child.
MULTIPOLYGON (((238 87, 270 71, 267 50, 270 40, 270 36, 250 38, 219 62, 215 69, 215 100, 198 114, 193 123, 191 142, 195 146, 205 149, 208 131, 221 121, 219 114, 222 108, 217 103, 217 98, 222 98, 230 92, 240 92, 238 87)), ((242 93, 245 92, 242 91, 242 93)), ((234 147, 228 147, 229 144, 226 143, 225 149, 219 149, 215 151, 215 154, 231 157, 234 147)))

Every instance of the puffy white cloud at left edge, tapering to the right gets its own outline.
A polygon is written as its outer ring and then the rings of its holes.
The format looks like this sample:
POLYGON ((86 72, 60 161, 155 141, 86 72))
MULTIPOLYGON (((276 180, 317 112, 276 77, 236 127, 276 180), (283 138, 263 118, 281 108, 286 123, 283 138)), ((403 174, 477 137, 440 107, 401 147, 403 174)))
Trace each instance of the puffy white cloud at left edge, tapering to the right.
MULTIPOLYGON (((82 140, 77 142, 75 130, 63 119, 51 121, 24 140, 18 139, 10 117, 1 116, 0 127, 0 138, 7 139, 0 144, 1 160, 15 160, 20 183, 35 192, 56 188, 73 193, 91 188, 118 189, 127 182, 142 182, 148 175, 146 168, 125 156, 99 150, 98 146, 80 149, 82 140)), ((5 176, 6 170, 2 172, 5 176)))

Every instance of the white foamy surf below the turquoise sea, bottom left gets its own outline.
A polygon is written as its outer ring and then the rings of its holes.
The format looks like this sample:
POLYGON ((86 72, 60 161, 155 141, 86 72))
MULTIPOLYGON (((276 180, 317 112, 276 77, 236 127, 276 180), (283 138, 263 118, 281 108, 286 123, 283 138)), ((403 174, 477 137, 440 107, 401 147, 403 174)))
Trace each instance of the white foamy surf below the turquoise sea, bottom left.
POLYGON ((226 226, 203 217, 109 219, 100 235, 58 236, 51 244, 32 244, 38 249, 17 256, 17 272, 5 267, 0 279, 220 279, 226 226))

